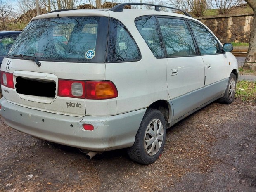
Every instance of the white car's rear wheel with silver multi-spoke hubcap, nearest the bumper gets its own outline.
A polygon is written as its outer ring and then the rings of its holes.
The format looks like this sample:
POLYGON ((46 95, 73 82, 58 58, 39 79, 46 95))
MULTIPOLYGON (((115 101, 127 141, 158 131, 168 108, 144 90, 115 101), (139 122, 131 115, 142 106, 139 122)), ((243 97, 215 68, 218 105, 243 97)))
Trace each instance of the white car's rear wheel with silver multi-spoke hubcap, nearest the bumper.
POLYGON ((140 123, 135 142, 132 147, 127 149, 128 156, 137 163, 152 164, 163 152, 165 139, 166 121, 163 114, 156 109, 147 109, 140 123))

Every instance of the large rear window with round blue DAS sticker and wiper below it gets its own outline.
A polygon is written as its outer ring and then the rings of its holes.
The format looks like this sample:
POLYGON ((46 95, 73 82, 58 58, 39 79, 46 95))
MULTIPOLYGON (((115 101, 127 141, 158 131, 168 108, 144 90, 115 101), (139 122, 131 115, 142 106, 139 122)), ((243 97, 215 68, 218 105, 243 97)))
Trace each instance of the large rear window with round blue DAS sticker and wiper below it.
POLYGON ((8 56, 39 60, 105 62, 107 17, 62 17, 31 21, 8 56))

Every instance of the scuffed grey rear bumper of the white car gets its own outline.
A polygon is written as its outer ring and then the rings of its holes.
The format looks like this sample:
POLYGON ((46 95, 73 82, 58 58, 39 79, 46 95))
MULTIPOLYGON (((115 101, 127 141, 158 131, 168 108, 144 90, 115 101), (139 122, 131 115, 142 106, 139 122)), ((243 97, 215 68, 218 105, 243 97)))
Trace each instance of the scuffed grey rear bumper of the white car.
POLYGON ((146 109, 114 116, 74 117, 53 114, 0 100, 5 123, 43 140, 91 151, 109 151, 133 145, 146 109), (93 131, 83 129, 92 124, 93 131))

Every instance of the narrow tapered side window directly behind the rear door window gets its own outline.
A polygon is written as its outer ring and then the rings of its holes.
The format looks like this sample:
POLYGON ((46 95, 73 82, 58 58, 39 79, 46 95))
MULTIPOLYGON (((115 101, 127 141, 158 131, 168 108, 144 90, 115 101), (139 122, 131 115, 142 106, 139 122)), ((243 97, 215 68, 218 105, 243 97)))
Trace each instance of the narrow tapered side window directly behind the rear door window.
POLYGON ((155 57, 164 57, 159 27, 154 16, 139 17, 135 25, 155 57))

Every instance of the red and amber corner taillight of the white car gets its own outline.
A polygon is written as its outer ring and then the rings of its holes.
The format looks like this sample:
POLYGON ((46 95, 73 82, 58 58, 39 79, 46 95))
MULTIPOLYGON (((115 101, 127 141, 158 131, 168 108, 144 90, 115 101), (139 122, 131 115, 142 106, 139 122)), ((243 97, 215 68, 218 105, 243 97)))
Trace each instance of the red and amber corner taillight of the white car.
POLYGON ((112 99, 118 96, 116 86, 111 81, 86 81, 85 98, 91 100, 112 99))

